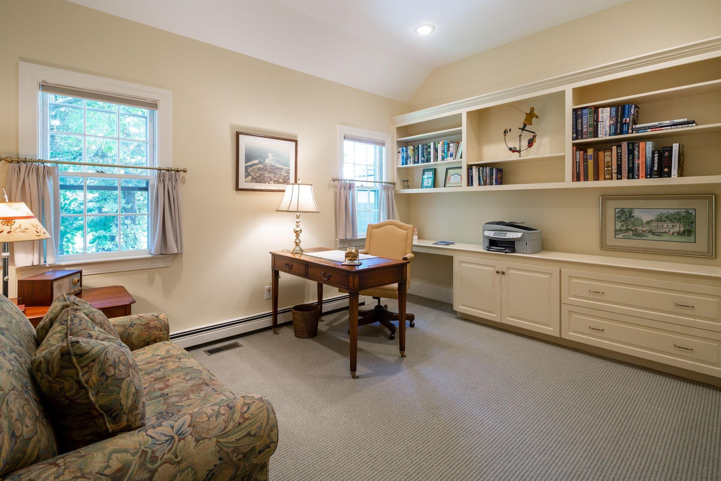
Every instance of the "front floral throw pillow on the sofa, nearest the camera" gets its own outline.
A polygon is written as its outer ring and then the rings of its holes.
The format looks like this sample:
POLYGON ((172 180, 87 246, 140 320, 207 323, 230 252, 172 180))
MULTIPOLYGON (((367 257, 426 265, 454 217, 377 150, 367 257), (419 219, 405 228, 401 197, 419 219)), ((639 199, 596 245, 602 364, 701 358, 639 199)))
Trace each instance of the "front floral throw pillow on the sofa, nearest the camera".
POLYGON ((62 451, 145 423, 143 381, 131 350, 81 306, 57 316, 32 358, 32 373, 54 410, 62 451))

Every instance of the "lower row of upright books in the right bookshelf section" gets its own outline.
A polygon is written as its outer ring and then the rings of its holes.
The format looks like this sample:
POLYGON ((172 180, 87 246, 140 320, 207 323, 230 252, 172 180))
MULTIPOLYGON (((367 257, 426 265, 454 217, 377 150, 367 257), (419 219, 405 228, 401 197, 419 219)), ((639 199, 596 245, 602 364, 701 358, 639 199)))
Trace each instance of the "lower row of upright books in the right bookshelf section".
POLYGON ((571 156, 574 182, 684 177, 684 144, 622 142, 606 150, 573 147, 571 156))

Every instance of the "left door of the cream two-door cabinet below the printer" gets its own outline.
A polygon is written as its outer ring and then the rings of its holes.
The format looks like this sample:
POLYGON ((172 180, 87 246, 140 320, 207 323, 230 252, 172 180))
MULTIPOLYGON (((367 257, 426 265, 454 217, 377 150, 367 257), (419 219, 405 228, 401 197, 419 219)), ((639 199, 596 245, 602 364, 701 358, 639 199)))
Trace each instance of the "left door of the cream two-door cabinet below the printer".
POLYGON ((454 309, 500 322, 500 262, 456 255, 453 273, 454 309))

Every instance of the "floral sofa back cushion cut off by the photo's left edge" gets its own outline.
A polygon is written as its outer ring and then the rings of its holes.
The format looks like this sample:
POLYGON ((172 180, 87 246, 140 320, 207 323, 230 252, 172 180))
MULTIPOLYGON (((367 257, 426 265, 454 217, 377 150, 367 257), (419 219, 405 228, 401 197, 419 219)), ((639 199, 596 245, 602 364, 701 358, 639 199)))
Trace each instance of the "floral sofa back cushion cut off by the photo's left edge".
POLYGON ((0 294, 0 477, 58 454, 30 362, 35 330, 0 294))

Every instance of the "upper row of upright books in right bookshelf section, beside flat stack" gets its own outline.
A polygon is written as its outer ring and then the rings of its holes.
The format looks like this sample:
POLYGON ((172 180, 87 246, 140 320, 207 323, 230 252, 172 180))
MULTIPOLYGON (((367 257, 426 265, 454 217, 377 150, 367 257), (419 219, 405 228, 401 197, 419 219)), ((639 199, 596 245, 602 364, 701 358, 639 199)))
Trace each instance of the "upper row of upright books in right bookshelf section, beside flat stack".
POLYGON ((635 104, 618 107, 583 107, 571 112, 573 140, 622 136, 633 132, 640 108, 635 104))

